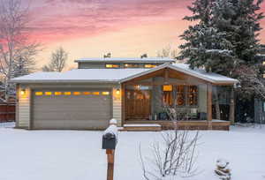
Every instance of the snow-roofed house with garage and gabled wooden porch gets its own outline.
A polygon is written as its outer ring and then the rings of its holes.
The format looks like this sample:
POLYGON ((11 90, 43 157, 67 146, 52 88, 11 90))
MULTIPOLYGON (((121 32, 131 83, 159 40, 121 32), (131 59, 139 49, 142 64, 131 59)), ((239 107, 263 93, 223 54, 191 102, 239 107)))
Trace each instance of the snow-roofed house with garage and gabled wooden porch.
MULTIPOLYGON (((17 79, 17 123, 26 129, 104 129, 119 126, 228 130, 215 119, 216 86, 230 91, 237 79, 190 69, 170 58, 82 58, 78 69, 36 72, 17 79), (214 118, 214 119, 213 119, 214 118)), ((232 91, 231 91, 232 92, 232 91)), ((233 121, 233 99, 231 116, 233 121)))

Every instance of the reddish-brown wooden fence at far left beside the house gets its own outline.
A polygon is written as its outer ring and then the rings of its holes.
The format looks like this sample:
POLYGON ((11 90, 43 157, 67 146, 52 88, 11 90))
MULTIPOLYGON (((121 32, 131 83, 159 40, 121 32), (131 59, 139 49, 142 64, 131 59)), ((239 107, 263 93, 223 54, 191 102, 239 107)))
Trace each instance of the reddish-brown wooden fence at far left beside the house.
POLYGON ((16 119, 16 105, 13 103, 0 104, 0 123, 14 122, 16 119))

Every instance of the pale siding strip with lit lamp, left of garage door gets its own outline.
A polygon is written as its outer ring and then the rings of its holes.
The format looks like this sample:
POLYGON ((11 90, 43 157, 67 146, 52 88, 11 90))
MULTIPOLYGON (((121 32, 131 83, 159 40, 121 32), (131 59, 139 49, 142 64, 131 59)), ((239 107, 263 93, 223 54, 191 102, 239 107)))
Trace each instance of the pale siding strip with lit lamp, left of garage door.
POLYGON ((19 87, 19 102, 17 104, 19 110, 18 123, 19 128, 30 128, 30 89, 27 87, 19 87), (25 90, 26 94, 20 94, 21 90, 25 90))

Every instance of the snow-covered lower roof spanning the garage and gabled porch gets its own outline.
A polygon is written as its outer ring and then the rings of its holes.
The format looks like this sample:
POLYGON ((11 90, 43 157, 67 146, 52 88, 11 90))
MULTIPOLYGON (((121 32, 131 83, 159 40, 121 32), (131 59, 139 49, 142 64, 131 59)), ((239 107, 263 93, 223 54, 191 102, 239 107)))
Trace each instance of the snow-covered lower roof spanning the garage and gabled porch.
POLYGON ((220 74, 206 72, 202 69, 190 69, 188 64, 162 64, 152 69, 76 69, 65 72, 35 72, 27 76, 11 79, 14 83, 45 83, 45 82, 115 82, 123 83, 130 79, 140 77, 153 71, 170 68, 181 71, 190 76, 218 84, 238 83, 220 74))

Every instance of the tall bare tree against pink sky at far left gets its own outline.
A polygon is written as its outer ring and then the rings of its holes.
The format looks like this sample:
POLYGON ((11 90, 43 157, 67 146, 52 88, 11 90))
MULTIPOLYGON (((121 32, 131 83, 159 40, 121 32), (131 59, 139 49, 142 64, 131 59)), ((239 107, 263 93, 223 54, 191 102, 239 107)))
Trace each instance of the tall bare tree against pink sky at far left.
POLYGON ((28 41, 28 7, 22 0, 0 0, 0 74, 4 96, 8 101, 15 94, 10 79, 33 71, 34 56, 40 44, 28 41), (22 73, 23 71, 23 73, 22 73))

